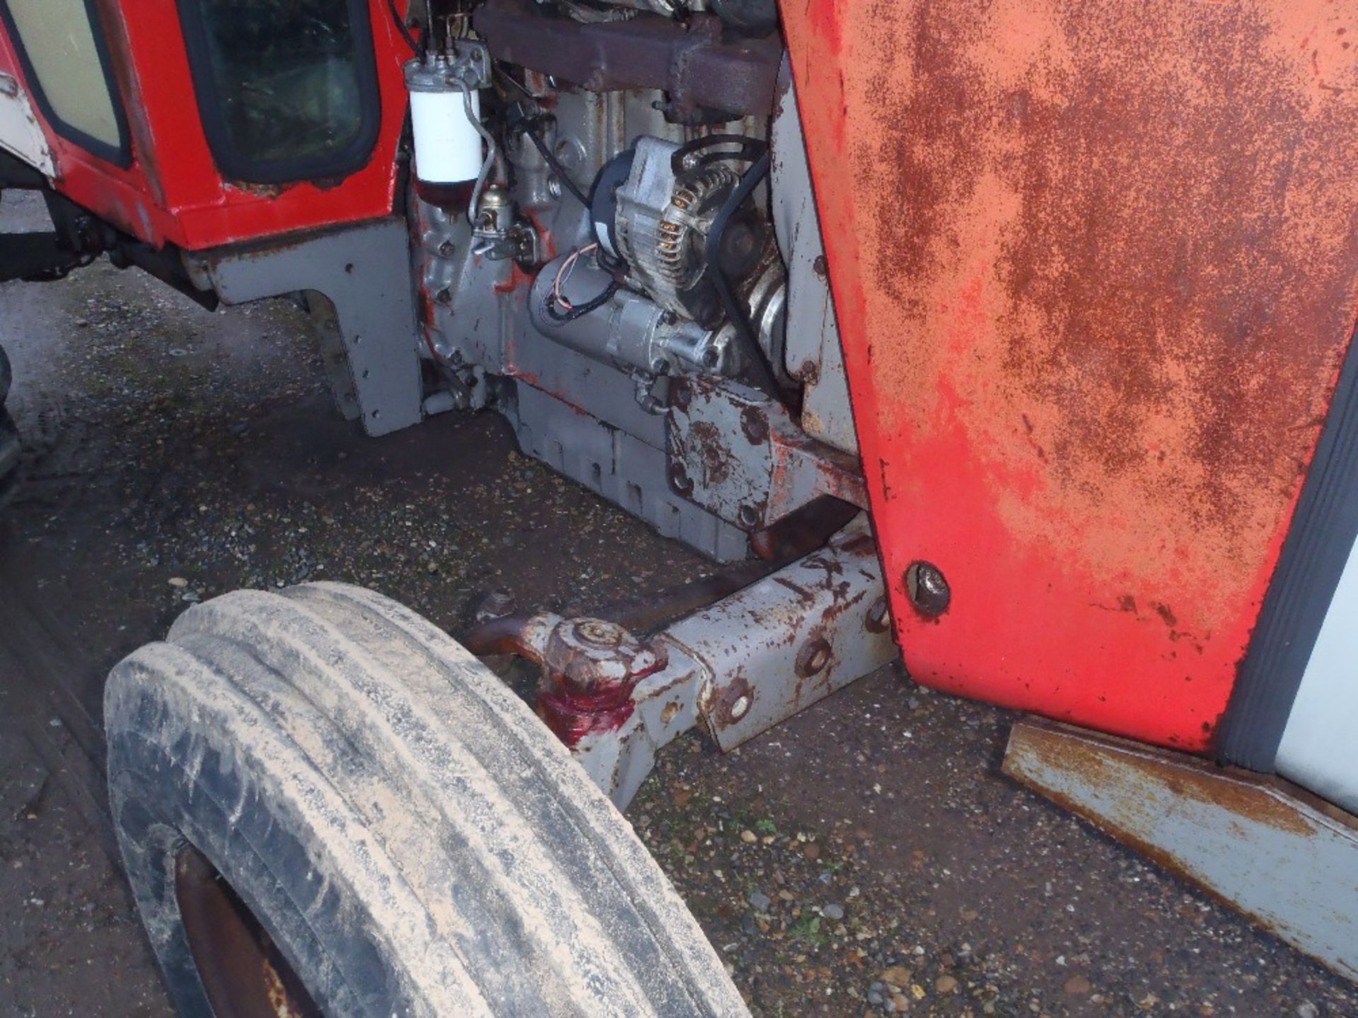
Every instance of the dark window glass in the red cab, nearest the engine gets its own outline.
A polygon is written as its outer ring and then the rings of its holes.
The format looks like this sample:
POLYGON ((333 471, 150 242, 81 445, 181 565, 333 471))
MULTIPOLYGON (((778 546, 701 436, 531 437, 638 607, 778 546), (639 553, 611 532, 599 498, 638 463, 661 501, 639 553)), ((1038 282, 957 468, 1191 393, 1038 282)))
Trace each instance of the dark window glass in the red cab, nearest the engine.
POLYGON ((361 141, 372 62, 365 4, 183 0, 181 10, 197 29, 200 103, 223 168, 261 181, 291 164, 300 175, 361 141), (266 164, 274 172, 250 172, 266 164))

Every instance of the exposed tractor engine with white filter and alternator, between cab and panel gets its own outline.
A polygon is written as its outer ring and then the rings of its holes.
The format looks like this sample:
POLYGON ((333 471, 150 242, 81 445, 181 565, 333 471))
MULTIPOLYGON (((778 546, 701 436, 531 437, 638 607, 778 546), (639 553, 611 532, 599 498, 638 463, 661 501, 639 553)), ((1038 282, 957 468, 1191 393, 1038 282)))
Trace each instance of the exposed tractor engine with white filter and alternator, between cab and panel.
POLYGON ((488 0, 406 83, 426 410, 722 561, 866 504, 773 3, 488 0))

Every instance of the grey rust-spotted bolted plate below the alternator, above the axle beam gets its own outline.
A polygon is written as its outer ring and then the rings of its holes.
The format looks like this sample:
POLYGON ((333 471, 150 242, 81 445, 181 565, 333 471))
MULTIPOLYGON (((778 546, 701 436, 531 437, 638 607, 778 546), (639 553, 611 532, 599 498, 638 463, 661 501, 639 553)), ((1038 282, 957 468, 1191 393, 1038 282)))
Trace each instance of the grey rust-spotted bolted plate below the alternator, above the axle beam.
POLYGON ((676 379, 671 487, 747 531, 822 497, 868 506, 858 459, 807 437, 779 403, 729 381, 676 379))

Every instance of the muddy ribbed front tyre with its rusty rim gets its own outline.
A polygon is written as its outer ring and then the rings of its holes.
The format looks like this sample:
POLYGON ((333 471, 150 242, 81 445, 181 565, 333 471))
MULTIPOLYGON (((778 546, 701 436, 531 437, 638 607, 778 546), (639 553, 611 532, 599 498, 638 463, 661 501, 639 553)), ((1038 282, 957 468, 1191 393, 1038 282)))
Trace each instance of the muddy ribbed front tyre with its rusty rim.
POLYGON ((187 1015, 736 1015, 623 817, 486 668, 338 584, 114 668, 124 862, 187 1015))

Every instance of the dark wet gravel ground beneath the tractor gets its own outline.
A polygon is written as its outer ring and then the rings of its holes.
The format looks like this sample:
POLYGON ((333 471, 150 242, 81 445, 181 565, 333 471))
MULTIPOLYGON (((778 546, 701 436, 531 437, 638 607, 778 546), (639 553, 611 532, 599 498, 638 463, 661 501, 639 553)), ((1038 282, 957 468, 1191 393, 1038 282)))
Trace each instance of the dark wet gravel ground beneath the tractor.
MULTIPOLYGON (((168 1013, 98 717, 109 666, 186 603, 348 580, 456 635, 492 588, 574 611, 710 567, 494 415, 364 438, 284 301, 208 314, 98 263, 0 286, 0 343, 30 447, 0 524, 4 1014, 168 1013)), ((898 665, 729 756, 680 740, 629 818, 758 1015, 1358 1015, 1353 985, 1002 778, 1010 721, 898 665)))

